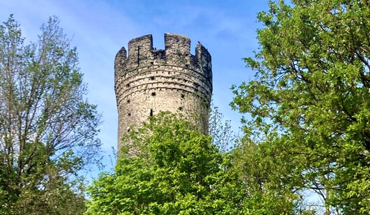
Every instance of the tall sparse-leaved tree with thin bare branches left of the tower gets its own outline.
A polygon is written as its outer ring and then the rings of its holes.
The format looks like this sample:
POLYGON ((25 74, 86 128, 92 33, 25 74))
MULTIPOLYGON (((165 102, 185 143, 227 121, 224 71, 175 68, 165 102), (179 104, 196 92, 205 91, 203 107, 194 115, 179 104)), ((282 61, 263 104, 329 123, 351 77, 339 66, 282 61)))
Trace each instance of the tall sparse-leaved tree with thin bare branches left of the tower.
POLYGON ((84 211, 78 171, 100 148, 86 92, 57 17, 29 45, 13 15, 0 25, 0 214, 84 211))

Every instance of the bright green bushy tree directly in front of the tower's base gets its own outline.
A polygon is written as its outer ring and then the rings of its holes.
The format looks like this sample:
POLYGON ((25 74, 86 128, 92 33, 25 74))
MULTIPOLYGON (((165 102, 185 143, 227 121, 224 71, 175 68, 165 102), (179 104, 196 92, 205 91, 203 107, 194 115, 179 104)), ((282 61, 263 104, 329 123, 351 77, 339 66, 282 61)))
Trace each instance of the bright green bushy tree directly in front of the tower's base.
POLYGON ((225 174, 223 154, 191 123, 162 112, 126 138, 131 144, 121 148, 115 172, 102 174, 88 189, 86 214, 238 211, 239 188, 225 174))

